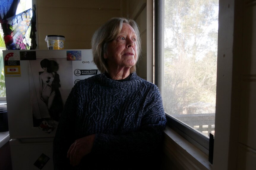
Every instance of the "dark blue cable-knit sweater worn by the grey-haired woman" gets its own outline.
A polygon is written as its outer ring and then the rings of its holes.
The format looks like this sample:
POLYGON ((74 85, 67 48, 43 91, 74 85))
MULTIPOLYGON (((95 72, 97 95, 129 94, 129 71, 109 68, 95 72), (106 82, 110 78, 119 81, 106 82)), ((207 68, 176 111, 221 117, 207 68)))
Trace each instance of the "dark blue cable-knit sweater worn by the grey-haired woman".
MULTIPOLYGON (((55 169, 145 169, 157 165, 166 119, 156 85, 132 73, 119 82, 104 74, 75 84, 53 143, 55 169), (78 166, 67 159, 78 138, 96 134, 78 166)), ((160 165, 159 165, 160 166, 160 165)))

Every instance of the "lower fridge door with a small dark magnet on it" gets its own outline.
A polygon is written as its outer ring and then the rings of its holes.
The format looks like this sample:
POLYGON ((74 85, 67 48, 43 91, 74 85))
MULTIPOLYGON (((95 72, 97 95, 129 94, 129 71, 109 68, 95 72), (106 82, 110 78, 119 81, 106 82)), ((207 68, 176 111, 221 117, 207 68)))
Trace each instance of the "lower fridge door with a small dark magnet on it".
POLYGON ((53 170, 53 138, 10 140, 12 170, 53 170))

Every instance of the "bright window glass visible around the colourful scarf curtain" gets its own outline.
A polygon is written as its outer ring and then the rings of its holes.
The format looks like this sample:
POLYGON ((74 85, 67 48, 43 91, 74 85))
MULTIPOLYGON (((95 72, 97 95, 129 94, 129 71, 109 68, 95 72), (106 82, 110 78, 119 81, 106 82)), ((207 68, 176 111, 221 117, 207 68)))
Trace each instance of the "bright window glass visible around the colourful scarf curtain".
MULTIPOLYGON (((20 0, 16 10, 16 14, 19 14, 32 7, 32 0, 20 0)), ((29 39, 30 28, 26 32, 26 39, 29 39)), ((5 78, 4 78, 4 63, 3 63, 3 50, 6 50, 4 43, 4 33, 2 28, 0 29, 0 100, 6 100, 5 94, 5 78)))

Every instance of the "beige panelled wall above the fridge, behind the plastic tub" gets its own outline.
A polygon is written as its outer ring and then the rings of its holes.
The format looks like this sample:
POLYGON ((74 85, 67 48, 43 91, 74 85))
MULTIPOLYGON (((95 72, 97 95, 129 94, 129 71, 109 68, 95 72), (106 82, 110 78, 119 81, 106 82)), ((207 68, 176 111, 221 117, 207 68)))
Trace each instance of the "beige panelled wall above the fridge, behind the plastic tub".
POLYGON ((38 47, 46 35, 64 35, 65 49, 90 49, 95 30, 112 17, 123 16, 120 0, 37 0, 38 47))

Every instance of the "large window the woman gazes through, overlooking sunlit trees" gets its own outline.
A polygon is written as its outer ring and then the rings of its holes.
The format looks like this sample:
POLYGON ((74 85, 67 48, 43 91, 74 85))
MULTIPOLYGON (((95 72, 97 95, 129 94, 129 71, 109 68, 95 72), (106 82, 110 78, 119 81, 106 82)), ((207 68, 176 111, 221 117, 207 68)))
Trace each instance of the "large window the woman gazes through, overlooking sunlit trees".
POLYGON ((215 128, 219 2, 155 2, 154 79, 168 124, 208 154, 215 128))

